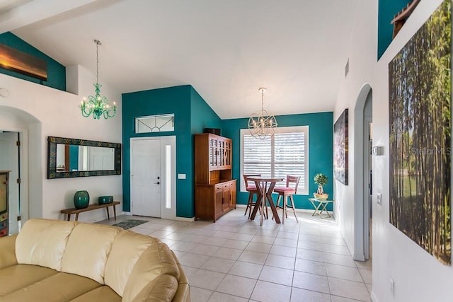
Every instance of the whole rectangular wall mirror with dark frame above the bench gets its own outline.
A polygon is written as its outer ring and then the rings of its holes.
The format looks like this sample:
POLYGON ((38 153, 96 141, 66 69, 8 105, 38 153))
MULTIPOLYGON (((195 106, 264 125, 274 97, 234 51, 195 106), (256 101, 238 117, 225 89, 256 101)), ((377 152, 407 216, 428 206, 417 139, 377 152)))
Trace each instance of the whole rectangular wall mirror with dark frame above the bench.
POLYGON ((120 174, 121 144, 47 137, 47 179, 120 174))

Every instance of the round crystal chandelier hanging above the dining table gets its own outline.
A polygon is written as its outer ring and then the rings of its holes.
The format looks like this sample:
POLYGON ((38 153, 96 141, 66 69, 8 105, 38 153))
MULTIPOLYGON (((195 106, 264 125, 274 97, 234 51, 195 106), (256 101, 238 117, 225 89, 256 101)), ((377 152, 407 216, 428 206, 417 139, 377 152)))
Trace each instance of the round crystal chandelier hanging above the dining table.
POLYGON ((269 115, 264 110, 264 93, 266 88, 261 87, 258 90, 261 91, 261 110, 260 112, 253 113, 248 118, 248 130, 253 137, 265 139, 274 134, 275 127, 277 127, 277 120, 275 120, 274 115, 269 115))

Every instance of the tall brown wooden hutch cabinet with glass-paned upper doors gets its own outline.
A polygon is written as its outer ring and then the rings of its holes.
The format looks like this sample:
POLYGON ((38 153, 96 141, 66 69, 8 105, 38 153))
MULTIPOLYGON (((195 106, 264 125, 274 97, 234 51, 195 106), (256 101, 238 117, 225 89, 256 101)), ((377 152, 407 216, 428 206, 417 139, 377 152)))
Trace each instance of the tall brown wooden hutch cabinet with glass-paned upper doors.
POLYGON ((195 134, 195 219, 212 219, 236 209, 231 179, 231 139, 195 134))

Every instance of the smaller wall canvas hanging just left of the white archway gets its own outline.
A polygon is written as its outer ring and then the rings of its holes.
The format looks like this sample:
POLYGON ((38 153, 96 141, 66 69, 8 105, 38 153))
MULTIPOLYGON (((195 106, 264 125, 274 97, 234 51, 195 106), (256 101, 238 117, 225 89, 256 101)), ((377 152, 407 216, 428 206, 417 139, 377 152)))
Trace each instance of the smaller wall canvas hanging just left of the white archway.
POLYGON ((348 109, 333 125, 333 177, 348 185, 348 109))

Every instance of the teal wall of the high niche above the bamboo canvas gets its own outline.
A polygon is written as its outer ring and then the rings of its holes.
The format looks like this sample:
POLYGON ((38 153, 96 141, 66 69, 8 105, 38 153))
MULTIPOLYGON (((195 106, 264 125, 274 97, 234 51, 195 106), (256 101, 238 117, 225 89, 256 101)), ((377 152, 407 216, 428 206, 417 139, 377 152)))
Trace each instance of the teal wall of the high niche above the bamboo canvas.
POLYGON ((379 0, 378 15, 377 15, 377 59, 382 57, 382 54, 389 47, 394 25, 390 22, 394 19, 396 13, 401 11, 412 0, 379 0))

